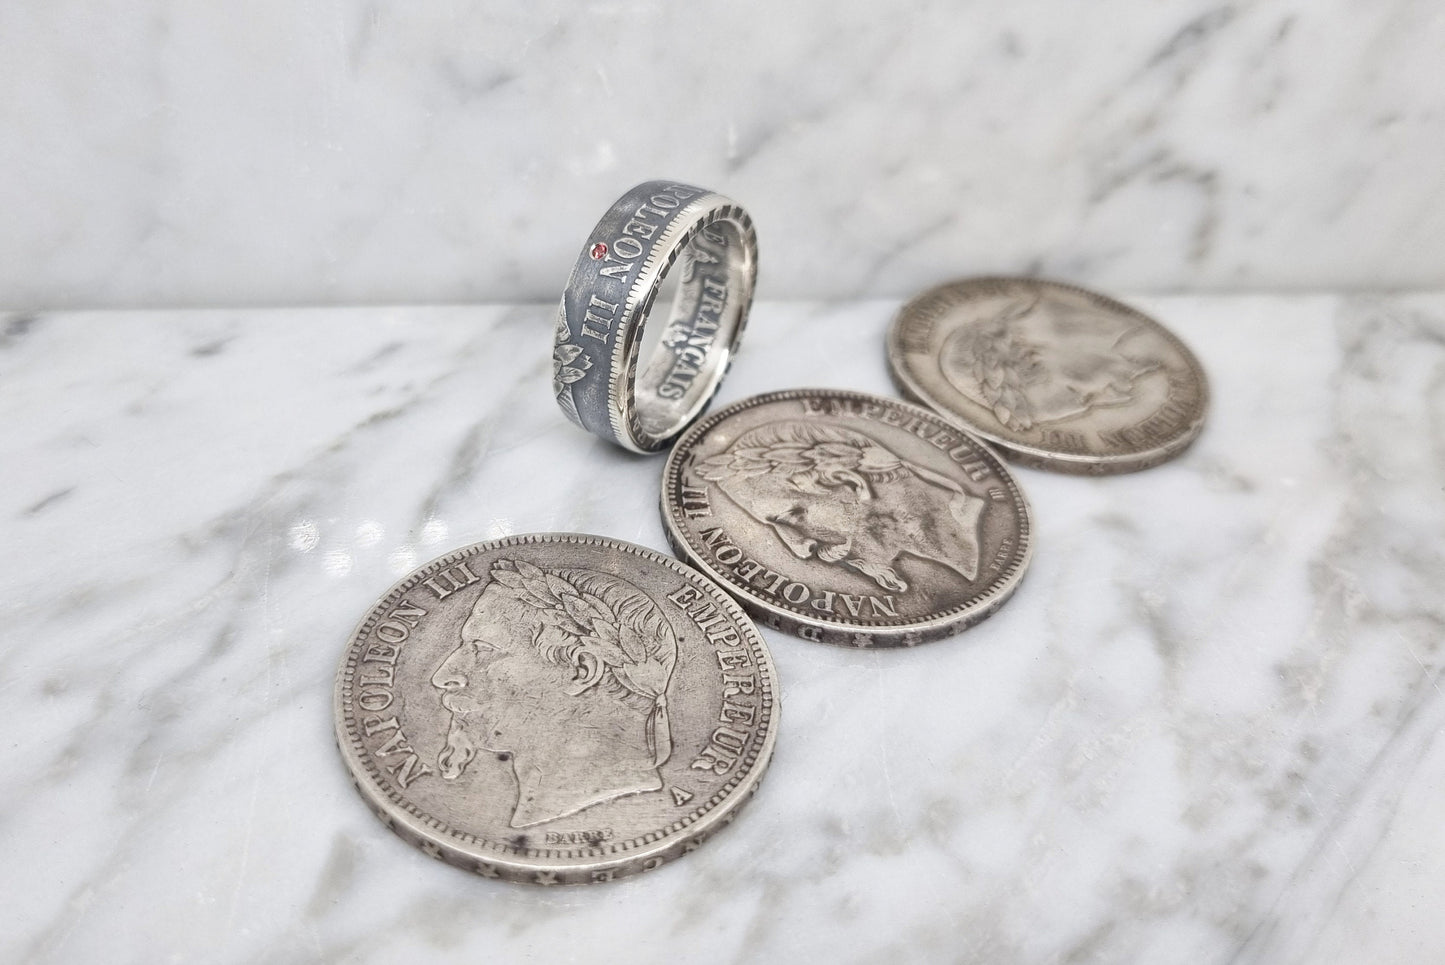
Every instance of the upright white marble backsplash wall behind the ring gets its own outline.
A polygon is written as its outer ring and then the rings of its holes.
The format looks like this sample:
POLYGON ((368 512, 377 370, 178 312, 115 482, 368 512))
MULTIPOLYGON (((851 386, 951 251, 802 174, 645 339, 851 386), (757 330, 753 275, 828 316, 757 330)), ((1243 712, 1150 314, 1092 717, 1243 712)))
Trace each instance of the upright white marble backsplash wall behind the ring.
POLYGON ((556 298, 627 186, 763 298, 1445 287, 1435 0, 0 7, 0 308, 556 298))

